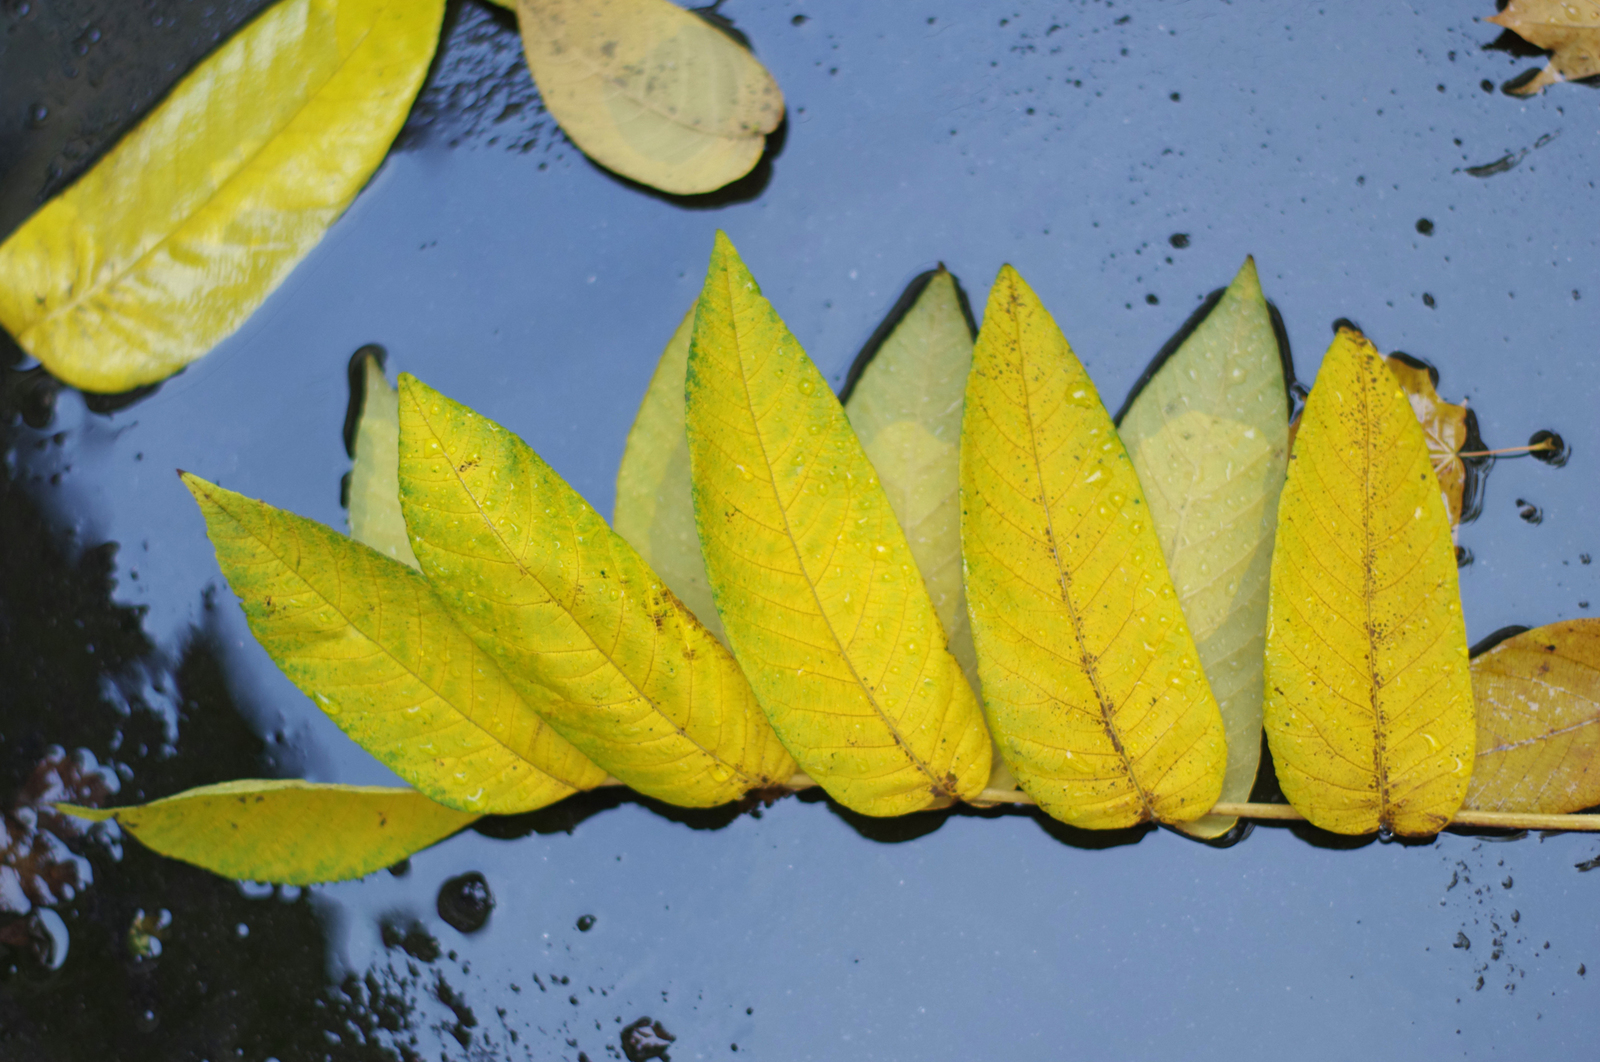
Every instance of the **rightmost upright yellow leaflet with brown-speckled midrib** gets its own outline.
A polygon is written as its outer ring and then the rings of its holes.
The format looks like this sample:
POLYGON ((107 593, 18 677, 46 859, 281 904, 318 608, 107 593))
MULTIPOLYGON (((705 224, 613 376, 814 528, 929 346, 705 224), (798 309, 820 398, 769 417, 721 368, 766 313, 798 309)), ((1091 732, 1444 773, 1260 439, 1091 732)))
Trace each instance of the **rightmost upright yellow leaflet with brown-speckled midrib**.
POLYGON ((1341 329, 1278 501, 1267 741, 1283 795, 1334 833, 1442 830, 1472 773, 1450 517, 1394 373, 1341 329))

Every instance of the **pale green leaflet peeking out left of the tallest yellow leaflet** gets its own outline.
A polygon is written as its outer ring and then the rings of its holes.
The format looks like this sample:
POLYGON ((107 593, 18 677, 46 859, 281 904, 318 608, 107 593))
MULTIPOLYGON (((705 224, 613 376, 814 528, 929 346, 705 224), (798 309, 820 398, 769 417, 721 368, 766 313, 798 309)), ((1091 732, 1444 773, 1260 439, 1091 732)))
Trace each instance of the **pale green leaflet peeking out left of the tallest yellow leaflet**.
POLYGON ((706 630, 726 640, 706 582, 690 493, 690 438, 683 429, 683 374, 690 363, 694 307, 661 352, 645 401, 616 470, 611 526, 638 550, 706 630))

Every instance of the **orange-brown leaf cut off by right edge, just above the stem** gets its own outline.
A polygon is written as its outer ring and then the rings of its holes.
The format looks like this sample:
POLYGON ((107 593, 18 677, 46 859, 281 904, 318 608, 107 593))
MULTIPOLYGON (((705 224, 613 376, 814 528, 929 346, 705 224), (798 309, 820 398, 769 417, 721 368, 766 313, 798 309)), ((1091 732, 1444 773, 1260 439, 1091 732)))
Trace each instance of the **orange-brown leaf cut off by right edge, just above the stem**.
POLYGON ((1528 630, 1472 661, 1477 760, 1462 806, 1566 814, 1600 804, 1600 621, 1528 630))

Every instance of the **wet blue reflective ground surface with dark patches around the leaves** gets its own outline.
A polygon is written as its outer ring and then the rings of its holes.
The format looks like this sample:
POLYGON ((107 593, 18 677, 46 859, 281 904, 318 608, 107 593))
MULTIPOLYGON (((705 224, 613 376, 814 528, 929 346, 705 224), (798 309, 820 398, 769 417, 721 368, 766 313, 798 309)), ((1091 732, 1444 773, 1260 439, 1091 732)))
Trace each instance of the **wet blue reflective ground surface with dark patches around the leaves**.
MULTIPOLYGON (((112 128, 62 64, 90 22, 88 54, 134 29, 80 6, 45 32, 37 5, 0 3, 6 230, 42 160, 112 128), (26 50, 70 90, 34 125, 26 50)), ((203 29, 251 5, 136 6, 203 29)), ((250 638, 173 469, 342 528, 346 365, 376 342, 608 512, 715 227, 835 384, 917 273, 944 261, 981 309, 1010 261, 1112 408, 1253 253, 1302 381, 1346 317, 1435 365, 1486 446, 1562 437, 1565 467, 1499 461, 1480 485, 1469 637, 1587 614, 1600 93, 1504 96, 1541 59, 1485 50, 1470 8, 730 0, 787 130, 765 176, 682 203, 574 152, 510 21, 453 5, 403 147, 237 336, 126 405, 8 355, 0 801, 53 747, 125 801, 392 782, 250 638)), ((198 32, 117 54, 173 50, 158 85, 198 32)), ((142 99, 115 69, 102 93, 142 99)), ((1584 1057, 1600 1032, 1600 873, 1578 868, 1600 843, 1573 835, 1258 827, 1218 849, 1021 812, 605 793, 306 891, 62 844, 72 897, 0 915, 5 1059, 1584 1057)))

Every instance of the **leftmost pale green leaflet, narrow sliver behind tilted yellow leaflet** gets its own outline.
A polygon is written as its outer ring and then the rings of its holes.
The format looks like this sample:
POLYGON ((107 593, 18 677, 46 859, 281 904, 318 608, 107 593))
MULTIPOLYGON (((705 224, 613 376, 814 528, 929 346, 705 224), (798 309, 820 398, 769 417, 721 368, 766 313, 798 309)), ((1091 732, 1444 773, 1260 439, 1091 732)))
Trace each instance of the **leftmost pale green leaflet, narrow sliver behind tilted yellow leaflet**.
POLYGON ((366 385, 350 465, 350 537, 421 571, 400 513, 400 397, 378 358, 362 363, 366 385))

